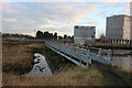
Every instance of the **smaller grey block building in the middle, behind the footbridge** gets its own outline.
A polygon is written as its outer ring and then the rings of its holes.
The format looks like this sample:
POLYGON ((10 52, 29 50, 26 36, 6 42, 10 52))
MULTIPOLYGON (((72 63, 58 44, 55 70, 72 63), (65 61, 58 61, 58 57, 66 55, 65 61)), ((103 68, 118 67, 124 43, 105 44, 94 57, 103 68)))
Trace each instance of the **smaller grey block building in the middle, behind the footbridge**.
POLYGON ((75 43, 95 42, 96 26, 75 26, 74 41, 75 43))

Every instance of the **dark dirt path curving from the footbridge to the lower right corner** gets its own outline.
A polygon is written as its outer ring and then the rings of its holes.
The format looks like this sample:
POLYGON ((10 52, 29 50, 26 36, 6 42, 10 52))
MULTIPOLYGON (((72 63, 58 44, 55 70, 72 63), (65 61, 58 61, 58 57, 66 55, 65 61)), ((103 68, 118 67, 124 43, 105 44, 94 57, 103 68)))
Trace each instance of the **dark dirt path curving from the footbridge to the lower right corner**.
POLYGON ((94 65, 97 66, 99 70, 111 77, 116 82, 116 86, 120 86, 120 88, 130 88, 129 85, 120 76, 111 72, 107 65, 97 62, 94 62, 94 65))

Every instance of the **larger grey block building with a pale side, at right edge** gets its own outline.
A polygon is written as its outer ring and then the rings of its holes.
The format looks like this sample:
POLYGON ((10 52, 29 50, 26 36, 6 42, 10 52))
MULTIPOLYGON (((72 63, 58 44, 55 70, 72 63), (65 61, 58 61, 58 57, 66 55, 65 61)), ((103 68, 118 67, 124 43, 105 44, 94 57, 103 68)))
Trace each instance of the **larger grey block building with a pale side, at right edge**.
POLYGON ((107 38, 132 40, 132 16, 114 15, 107 18, 107 38))

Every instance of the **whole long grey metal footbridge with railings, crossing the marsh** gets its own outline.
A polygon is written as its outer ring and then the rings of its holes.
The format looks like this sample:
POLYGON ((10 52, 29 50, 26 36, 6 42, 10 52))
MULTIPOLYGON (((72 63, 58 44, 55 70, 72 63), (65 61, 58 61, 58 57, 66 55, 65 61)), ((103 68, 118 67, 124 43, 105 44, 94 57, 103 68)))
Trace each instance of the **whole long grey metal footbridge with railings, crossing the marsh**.
POLYGON ((95 47, 92 47, 92 50, 98 50, 98 54, 90 52, 90 50, 80 48, 77 46, 66 45, 62 43, 46 42, 46 46, 84 68, 88 68, 88 66, 92 64, 92 61, 97 61, 103 64, 111 63, 109 51, 107 51, 108 54, 106 56, 102 56, 100 54, 100 48, 95 48, 95 47))

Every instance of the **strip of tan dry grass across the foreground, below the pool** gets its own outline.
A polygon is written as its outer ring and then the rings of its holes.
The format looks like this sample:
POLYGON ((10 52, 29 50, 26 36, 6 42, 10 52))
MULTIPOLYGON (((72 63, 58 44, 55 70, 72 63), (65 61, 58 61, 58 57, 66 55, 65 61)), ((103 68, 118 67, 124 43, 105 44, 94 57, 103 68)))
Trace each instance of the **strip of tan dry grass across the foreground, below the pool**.
POLYGON ((67 72, 54 74, 50 78, 3 75, 3 85, 6 86, 106 86, 103 75, 95 67, 90 69, 75 67, 67 72))

